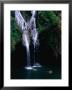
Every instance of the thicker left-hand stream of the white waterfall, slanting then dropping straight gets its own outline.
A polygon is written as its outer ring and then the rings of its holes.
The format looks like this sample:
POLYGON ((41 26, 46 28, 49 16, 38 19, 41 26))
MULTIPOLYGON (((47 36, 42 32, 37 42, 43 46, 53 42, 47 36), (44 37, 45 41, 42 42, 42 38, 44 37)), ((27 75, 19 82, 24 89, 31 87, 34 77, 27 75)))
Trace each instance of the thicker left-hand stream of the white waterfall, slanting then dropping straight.
POLYGON ((27 23, 22 17, 20 11, 15 11, 15 19, 17 21, 18 26, 20 27, 20 30, 22 32, 22 41, 23 45, 26 47, 27 50, 27 66, 26 69, 32 69, 31 63, 30 63, 30 49, 29 49, 29 35, 27 31, 27 23))

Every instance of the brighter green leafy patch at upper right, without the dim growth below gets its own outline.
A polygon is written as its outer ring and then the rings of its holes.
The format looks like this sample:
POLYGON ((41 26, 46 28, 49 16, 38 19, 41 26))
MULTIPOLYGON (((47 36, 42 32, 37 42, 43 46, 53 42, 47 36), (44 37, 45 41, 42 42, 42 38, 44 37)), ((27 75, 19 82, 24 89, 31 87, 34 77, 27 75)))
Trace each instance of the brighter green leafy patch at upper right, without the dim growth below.
POLYGON ((60 24, 60 17, 56 16, 53 11, 39 11, 38 12, 38 31, 43 31, 50 27, 58 27, 60 24))

